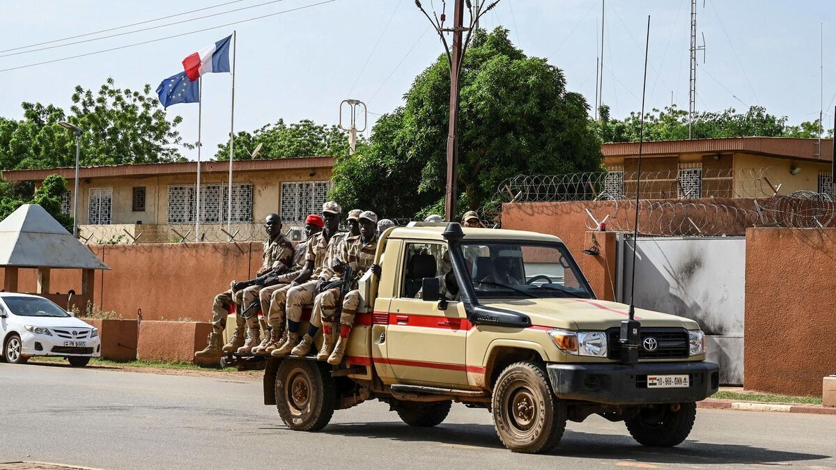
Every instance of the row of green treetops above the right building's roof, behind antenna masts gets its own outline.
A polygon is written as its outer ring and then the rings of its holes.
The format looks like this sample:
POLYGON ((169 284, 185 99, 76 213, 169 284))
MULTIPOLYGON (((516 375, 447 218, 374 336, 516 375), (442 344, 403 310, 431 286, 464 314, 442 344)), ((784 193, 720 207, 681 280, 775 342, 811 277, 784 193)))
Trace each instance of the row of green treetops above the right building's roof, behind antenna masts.
MULTIPOLYGON (((600 108, 600 120, 596 123, 604 142, 629 142, 639 140, 640 113, 630 113, 623 120, 609 117, 609 107, 600 108)), ((665 106, 645 113, 645 140, 683 140, 688 138, 688 111, 676 105, 665 106)), ((787 116, 767 113, 761 106, 752 106, 745 113, 734 108, 721 112, 703 111, 694 116, 694 139, 723 137, 818 137, 818 120, 788 125, 787 116)), ((828 131, 833 135, 833 130, 828 131)))

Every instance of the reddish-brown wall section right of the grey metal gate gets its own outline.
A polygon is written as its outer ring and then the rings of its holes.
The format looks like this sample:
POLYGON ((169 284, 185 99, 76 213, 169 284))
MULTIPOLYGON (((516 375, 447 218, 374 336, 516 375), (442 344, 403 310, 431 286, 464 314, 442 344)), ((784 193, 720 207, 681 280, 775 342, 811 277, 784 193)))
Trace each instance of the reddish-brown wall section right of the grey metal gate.
POLYGON ((836 228, 750 228, 745 386, 821 395, 836 374, 836 228))

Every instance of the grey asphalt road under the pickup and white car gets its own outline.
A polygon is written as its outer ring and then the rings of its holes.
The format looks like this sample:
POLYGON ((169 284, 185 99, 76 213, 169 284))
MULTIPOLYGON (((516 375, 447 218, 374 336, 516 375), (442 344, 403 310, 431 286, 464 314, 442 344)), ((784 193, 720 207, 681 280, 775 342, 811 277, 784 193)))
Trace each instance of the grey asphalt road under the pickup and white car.
MULTIPOLYGON (((836 416, 700 410, 673 449, 640 447, 623 423, 568 424, 551 455, 502 447, 484 410, 454 405, 440 426, 403 424, 377 401, 292 432, 247 377, 0 364, 0 463, 96 468, 836 467, 836 416)), ((2 467, 2 465, 0 465, 2 467)))

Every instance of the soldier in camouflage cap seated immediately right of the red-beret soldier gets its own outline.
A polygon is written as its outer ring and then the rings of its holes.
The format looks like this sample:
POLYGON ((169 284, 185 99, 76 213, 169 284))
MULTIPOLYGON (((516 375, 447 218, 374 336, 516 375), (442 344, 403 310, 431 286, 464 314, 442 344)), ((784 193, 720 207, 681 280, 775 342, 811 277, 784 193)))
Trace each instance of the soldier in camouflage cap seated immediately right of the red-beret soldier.
MULTIPOLYGON (((305 255, 305 266, 302 272, 288 287, 278 289, 273 293, 270 302, 270 321, 276 325, 283 322, 282 314, 286 314, 288 334, 287 339, 281 341, 270 355, 282 356, 290 354, 299 344, 299 323, 302 321, 302 309, 304 305, 314 301, 314 295, 319 292, 319 286, 327 279, 334 276, 334 261, 339 254, 343 238, 337 236, 339 227, 339 214, 342 208, 336 202, 325 202, 322 206, 325 228, 319 232, 310 243, 308 252, 305 255), (284 310, 284 311, 283 311, 284 310)), ((308 325, 308 334, 304 335, 302 341, 308 344, 314 343, 314 336, 319 331, 318 320, 311 319, 308 325)), ((275 328, 276 326, 273 326, 275 328)))

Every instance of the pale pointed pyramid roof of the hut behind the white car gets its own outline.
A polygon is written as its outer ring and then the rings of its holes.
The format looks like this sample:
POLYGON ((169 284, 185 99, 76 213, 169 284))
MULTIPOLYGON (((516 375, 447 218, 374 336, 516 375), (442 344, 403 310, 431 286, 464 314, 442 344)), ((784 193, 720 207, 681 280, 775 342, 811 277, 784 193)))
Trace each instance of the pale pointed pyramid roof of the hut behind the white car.
POLYGON ((110 269, 38 204, 0 222, 0 266, 110 269))

